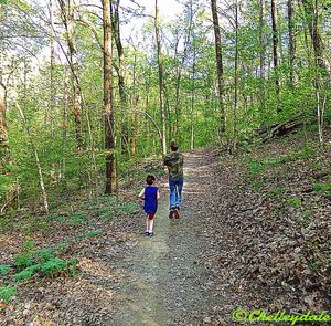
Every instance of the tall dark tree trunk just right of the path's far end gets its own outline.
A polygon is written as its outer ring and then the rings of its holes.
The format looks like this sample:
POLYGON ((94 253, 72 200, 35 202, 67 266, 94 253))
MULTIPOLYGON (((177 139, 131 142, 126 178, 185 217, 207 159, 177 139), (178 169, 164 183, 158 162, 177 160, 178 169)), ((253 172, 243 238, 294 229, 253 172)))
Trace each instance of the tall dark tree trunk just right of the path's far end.
POLYGON ((222 61, 222 43, 221 43, 221 31, 217 15, 217 4, 216 0, 211 0, 212 3, 212 14, 213 14, 213 25, 215 34, 215 51, 216 51, 216 65, 217 65, 217 83, 218 83, 218 109, 220 109, 220 127, 218 137, 221 138, 225 133, 225 109, 224 109, 224 80, 223 80, 223 61, 222 61))

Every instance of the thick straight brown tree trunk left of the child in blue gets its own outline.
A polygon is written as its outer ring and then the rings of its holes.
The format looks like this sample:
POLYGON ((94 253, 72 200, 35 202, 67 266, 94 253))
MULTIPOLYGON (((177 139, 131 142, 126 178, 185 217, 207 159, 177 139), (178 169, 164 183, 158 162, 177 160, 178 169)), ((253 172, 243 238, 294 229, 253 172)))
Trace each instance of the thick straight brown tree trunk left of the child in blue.
POLYGON ((105 107, 105 138, 106 138, 106 189, 105 193, 117 193, 117 176, 115 160, 114 135, 114 98, 113 98, 113 46, 110 0, 103 0, 104 25, 104 107, 105 107))

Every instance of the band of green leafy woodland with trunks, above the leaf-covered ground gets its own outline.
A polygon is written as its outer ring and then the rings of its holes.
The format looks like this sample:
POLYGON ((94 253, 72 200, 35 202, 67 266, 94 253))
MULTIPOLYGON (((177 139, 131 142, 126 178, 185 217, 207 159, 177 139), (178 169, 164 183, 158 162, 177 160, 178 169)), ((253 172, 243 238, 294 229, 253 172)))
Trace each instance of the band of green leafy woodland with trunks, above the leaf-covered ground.
POLYGON ((178 0, 171 20, 147 2, 0 1, 1 213, 116 193, 171 139, 235 153, 314 124, 323 141, 330 0, 178 0))

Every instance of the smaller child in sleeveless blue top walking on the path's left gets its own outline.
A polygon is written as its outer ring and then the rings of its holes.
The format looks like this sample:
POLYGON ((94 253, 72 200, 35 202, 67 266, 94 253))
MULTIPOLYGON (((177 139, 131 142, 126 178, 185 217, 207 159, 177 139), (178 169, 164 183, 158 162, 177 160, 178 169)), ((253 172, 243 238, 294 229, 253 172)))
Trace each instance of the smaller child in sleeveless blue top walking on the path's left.
POLYGON ((147 214, 146 217, 146 231, 145 235, 153 236, 153 224, 154 217, 158 210, 158 200, 160 199, 159 188, 154 185, 156 177, 147 176, 146 187, 139 193, 139 198, 143 200, 143 210, 147 214))

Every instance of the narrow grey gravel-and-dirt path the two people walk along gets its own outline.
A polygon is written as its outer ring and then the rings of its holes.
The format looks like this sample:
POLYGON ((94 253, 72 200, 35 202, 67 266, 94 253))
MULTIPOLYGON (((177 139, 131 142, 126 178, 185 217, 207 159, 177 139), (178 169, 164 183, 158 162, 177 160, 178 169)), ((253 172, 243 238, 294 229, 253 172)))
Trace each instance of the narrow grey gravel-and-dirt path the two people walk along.
MULTIPOLYGON (((211 306, 204 288, 204 271, 197 262, 204 244, 196 236, 200 211, 194 200, 206 196, 205 153, 185 155, 182 218, 168 218, 168 185, 161 185, 156 235, 137 235, 139 244, 119 265, 128 271, 116 314, 109 325, 188 325, 203 318, 211 306)), ((143 224, 142 224, 143 225, 143 224)))

